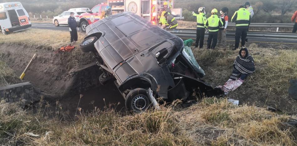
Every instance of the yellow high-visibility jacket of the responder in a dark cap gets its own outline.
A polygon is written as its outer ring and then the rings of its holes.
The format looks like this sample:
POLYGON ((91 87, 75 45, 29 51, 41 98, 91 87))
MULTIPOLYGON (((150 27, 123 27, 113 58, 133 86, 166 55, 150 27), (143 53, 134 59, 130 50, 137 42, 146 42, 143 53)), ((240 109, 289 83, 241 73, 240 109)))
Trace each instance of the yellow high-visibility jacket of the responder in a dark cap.
MULTIPOLYGON (((236 26, 248 26, 250 20, 250 12, 245 8, 240 8, 237 13, 236 26)), ((235 15, 234 14, 234 15, 235 15)))

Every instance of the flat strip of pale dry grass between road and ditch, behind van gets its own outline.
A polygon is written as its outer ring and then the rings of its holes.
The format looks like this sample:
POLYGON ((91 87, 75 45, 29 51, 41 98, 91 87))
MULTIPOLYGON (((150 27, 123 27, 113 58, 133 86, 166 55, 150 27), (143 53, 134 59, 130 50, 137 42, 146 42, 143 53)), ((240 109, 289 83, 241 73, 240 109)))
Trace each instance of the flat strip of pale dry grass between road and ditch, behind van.
MULTIPOLYGON (((78 43, 85 37, 84 33, 78 33, 78 43)), ((0 35, 0 44, 24 45, 31 48, 58 50, 61 46, 70 43, 70 33, 57 30, 30 29, 9 35, 0 35)))

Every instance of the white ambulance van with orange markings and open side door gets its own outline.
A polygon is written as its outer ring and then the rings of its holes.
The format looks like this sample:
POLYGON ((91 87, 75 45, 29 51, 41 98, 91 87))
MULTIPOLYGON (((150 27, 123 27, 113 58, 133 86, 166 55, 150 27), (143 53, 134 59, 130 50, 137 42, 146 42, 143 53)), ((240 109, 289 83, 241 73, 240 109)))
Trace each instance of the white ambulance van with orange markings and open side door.
POLYGON ((30 28, 29 14, 20 2, 0 3, 0 30, 4 35, 30 28))

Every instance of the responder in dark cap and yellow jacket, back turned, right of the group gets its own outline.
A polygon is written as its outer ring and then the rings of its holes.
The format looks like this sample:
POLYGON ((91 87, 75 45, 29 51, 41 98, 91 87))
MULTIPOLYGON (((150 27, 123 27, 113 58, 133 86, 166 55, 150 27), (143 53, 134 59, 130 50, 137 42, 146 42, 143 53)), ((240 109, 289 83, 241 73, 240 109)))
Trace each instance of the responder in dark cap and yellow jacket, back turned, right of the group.
POLYGON ((244 47, 248 27, 251 23, 251 15, 250 12, 244 8, 244 6, 240 6, 239 10, 236 11, 231 19, 231 22, 236 23, 236 31, 235 31, 235 47, 233 50, 238 49, 239 40, 241 37, 241 46, 244 47))

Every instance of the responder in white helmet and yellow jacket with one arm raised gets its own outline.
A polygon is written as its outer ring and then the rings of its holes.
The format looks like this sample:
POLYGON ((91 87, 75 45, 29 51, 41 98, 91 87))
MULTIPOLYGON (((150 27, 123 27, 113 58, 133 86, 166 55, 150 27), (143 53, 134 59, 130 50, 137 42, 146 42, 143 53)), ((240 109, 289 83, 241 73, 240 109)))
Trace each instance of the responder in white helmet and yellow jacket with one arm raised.
POLYGON ((196 30, 196 44, 195 48, 203 47, 203 41, 204 41, 204 35, 205 35, 205 24, 206 24, 206 16, 205 16, 205 8, 200 7, 198 9, 198 14, 194 13, 193 11, 193 16, 197 17, 197 30, 196 30))

